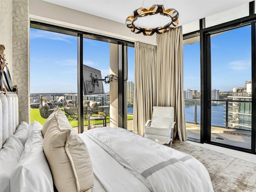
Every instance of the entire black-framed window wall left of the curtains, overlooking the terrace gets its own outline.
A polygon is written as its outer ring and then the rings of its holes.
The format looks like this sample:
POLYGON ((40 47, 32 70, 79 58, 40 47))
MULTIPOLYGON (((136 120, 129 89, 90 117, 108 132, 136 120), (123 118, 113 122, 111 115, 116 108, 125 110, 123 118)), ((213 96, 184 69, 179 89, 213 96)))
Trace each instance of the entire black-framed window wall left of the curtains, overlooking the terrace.
POLYGON ((134 48, 130 46, 133 47, 134 43, 32 22, 30 28, 31 122, 37 120, 43 124, 58 106, 66 114, 70 125, 78 132, 88 128, 88 116, 101 114, 106 115, 107 124, 103 124, 102 120, 95 120, 90 122, 90 125, 110 126, 112 119, 114 123, 112 125, 127 128, 127 120, 132 120, 132 115, 126 118, 127 96, 124 94, 126 89, 123 88, 127 86, 128 63, 130 79, 134 68, 132 67, 134 48), (100 79, 94 82, 95 91, 91 79, 90 82, 87 79, 84 81, 86 85, 81 81, 84 80, 83 72, 80 72, 83 66, 96 72, 98 76, 93 74, 94 80, 100 79), (126 76, 122 75, 123 72, 126 76), (100 84, 102 90, 97 92, 100 84), (83 92, 84 87, 86 92, 83 92), (112 115, 116 118, 110 118, 111 108, 112 115), (78 128, 79 124, 82 128, 78 128))

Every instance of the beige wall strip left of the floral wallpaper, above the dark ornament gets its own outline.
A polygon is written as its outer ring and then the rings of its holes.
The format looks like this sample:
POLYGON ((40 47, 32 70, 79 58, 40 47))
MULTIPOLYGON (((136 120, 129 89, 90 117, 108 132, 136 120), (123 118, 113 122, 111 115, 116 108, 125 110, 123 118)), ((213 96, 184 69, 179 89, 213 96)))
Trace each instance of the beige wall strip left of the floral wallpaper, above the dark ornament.
MULTIPOLYGON (((5 46, 4 54, 8 68, 12 71, 12 1, 0 0, 0 44, 5 46)), ((12 74, 11 74, 12 75, 12 74)))

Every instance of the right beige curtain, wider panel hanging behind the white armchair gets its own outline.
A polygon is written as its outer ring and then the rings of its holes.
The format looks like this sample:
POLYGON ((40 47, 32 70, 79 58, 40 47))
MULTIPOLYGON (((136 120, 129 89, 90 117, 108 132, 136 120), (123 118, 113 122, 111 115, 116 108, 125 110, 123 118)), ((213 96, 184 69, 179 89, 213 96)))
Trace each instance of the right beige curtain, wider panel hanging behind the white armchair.
POLYGON ((157 35, 156 106, 175 109, 174 138, 187 140, 183 100, 182 26, 157 35))

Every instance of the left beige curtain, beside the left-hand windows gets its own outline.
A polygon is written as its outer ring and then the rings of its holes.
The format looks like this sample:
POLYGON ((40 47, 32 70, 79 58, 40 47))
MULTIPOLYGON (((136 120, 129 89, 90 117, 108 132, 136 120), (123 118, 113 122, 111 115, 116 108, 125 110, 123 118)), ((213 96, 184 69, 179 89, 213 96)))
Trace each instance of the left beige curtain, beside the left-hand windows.
POLYGON ((135 42, 133 131, 144 136, 144 126, 156 104, 156 46, 135 42))

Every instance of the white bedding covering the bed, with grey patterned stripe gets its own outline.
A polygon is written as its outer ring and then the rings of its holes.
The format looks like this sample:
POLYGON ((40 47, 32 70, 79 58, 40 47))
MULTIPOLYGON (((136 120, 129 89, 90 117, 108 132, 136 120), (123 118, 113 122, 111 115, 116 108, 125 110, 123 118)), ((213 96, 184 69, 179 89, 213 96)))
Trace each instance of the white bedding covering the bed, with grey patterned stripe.
POLYGON ((80 134, 94 174, 108 192, 212 192, 206 168, 195 158, 123 128, 80 134))

